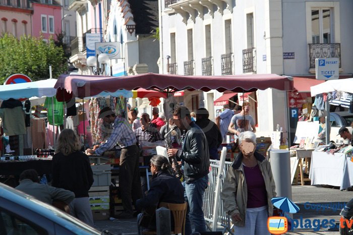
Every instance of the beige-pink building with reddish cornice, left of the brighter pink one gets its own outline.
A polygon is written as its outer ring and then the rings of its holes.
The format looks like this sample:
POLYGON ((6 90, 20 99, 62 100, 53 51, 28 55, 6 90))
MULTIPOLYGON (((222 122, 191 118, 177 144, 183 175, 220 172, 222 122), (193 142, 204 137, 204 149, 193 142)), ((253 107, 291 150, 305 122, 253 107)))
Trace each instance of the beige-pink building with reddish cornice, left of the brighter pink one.
POLYGON ((0 0, 0 35, 12 33, 17 38, 32 34, 33 10, 26 0, 0 0))

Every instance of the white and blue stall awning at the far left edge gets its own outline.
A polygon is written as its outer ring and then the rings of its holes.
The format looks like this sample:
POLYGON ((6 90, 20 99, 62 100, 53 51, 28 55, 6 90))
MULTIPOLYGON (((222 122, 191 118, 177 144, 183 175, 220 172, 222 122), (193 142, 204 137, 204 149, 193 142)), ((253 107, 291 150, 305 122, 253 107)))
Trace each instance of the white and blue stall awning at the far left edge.
POLYGON ((46 79, 36 82, 16 83, 0 86, 0 99, 21 99, 31 97, 52 97, 56 94, 54 85, 56 79, 46 79))

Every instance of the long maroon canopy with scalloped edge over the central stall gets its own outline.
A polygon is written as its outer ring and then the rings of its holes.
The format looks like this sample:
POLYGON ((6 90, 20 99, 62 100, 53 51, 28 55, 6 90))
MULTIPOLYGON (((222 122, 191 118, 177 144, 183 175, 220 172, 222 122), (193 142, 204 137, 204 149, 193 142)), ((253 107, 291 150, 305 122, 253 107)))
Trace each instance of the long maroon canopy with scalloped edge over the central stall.
POLYGON ((233 92, 265 90, 293 90, 293 82, 276 74, 254 74, 233 76, 182 76, 165 74, 141 74, 126 77, 61 75, 54 88, 66 89, 74 97, 94 96, 102 91, 114 92, 119 89, 136 90, 138 88, 164 91, 179 90, 217 90, 233 92))

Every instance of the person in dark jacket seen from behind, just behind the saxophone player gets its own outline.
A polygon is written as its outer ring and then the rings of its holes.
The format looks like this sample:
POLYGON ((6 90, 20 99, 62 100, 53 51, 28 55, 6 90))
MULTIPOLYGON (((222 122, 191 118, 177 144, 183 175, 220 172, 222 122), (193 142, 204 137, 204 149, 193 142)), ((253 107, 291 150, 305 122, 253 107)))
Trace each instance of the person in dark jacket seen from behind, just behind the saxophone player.
POLYGON ((205 133, 210 159, 219 160, 218 147, 223 138, 217 125, 208 119, 209 113, 206 108, 199 108, 196 111, 196 124, 205 133))

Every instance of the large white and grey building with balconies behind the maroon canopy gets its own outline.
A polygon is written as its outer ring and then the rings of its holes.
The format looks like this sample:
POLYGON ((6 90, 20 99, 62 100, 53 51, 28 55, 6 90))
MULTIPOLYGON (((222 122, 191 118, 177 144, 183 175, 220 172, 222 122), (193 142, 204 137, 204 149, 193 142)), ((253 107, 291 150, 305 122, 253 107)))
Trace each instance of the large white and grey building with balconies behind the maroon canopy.
MULTIPOLYGON (((169 67, 180 75, 311 76, 316 57, 337 56, 341 72, 353 72, 350 0, 159 1, 160 73, 169 67)), ((184 102, 191 109, 204 106, 212 117, 221 95, 185 92, 184 102)), ((277 124, 288 130, 285 92, 268 89, 251 97, 257 100, 250 102, 259 132, 274 131, 277 124)))

